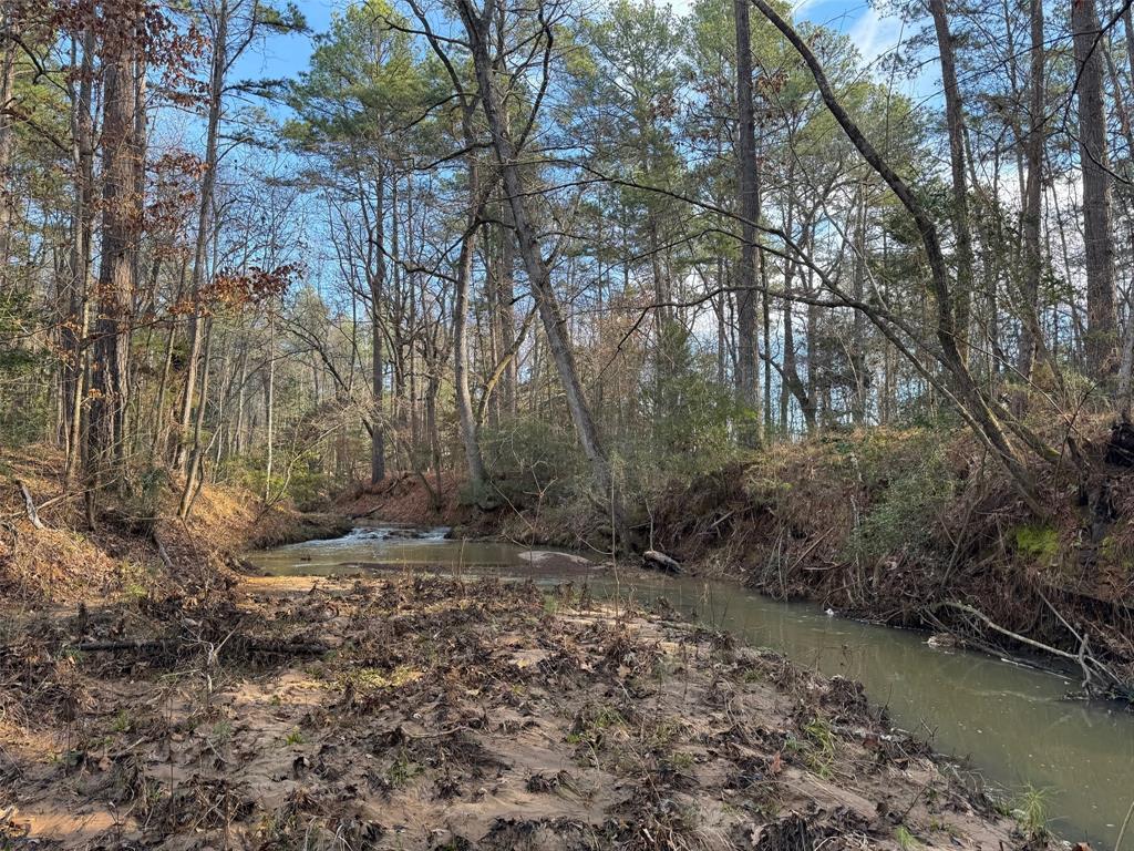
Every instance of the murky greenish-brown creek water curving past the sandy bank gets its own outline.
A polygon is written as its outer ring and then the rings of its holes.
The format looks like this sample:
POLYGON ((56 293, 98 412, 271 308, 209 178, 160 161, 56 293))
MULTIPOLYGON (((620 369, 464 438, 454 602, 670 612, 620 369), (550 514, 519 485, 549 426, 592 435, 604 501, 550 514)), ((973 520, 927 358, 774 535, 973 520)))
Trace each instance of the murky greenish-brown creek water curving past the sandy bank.
MULTIPOLYGON (((612 572, 581 554, 446 538, 443 529, 358 528, 333 540, 253 553, 278 575, 344 575, 405 570, 497 573, 538 582, 584 580, 595 596, 616 591, 676 608, 743 641, 769 647, 827 675, 860 680, 894 723, 941 752, 967 757, 991 785, 1043 790, 1051 828, 1111 849, 1134 798, 1134 714, 1065 700, 1075 683, 964 650, 938 649, 925 635, 831 616, 735 584, 612 572)), ((1125 844, 1134 849, 1134 832, 1125 844)))

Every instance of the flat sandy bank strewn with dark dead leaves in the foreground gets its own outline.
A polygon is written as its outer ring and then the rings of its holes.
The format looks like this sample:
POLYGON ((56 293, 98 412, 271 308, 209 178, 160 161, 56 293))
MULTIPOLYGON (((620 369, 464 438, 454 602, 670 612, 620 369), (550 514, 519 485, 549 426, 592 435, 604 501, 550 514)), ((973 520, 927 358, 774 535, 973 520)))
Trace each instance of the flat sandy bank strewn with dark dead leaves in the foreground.
POLYGON ((1025 841, 855 684, 568 588, 254 579, 5 641, 0 846, 1025 841))

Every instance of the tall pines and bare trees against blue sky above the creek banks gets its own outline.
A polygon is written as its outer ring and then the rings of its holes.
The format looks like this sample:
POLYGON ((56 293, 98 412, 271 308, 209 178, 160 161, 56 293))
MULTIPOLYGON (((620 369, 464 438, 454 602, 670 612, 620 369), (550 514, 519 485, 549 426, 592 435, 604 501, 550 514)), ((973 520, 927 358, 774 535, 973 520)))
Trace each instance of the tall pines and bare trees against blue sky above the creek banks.
POLYGON ((1043 513, 1129 421, 1129 6, 897 3, 875 57, 768 0, 3 0, 0 440, 92 524, 455 470, 623 528, 932 426, 1043 513))

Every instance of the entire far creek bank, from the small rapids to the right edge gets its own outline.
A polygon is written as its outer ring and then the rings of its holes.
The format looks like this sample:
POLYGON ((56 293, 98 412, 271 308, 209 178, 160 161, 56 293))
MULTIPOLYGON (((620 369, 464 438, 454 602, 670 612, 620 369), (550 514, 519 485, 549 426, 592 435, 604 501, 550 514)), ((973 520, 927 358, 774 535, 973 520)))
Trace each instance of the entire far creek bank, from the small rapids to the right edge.
MULTIPOLYGON (((1036 465, 1041 519, 967 431, 877 428, 773 443, 657 485, 635 497, 631 520, 686 572, 777 599, 948 631, 996 656, 1035 642, 1052 669, 1076 675, 1085 651, 1107 674, 1093 693, 1134 702, 1134 467, 1112 457, 1107 428, 1083 428, 1094 472, 1073 481, 1036 465)), ((457 477, 426 487, 404 474, 339 508, 443 523, 458 538, 609 551, 609 517, 569 477, 511 472, 493 488, 498 505, 483 511, 457 477)))

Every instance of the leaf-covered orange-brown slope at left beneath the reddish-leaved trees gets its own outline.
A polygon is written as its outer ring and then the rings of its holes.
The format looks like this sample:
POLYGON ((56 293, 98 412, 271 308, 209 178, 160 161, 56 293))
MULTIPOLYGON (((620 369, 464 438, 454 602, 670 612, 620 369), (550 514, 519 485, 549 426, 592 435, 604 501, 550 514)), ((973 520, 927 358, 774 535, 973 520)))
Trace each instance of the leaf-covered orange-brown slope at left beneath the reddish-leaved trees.
POLYGON ((239 553, 341 533, 332 516, 304 515, 290 503, 264 504, 239 486, 206 485, 188 519, 177 516, 180 482, 139 466, 108 490, 95 526, 82 488, 62 486, 64 456, 33 445, 0 453, 0 596, 9 603, 138 597, 223 581, 239 553), (20 483, 39 506, 27 514, 20 483))

